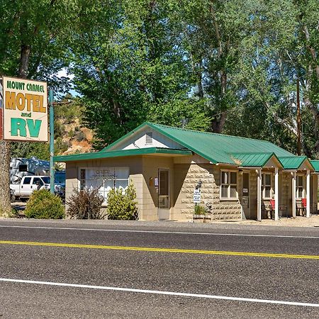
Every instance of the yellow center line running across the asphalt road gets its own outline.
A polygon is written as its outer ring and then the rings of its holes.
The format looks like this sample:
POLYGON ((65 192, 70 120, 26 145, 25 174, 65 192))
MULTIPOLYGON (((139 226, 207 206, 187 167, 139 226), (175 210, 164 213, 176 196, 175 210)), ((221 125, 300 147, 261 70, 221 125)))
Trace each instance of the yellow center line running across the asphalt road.
POLYGON ((319 255, 307 254, 272 254, 267 252, 228 252, 220 250, 181 250, 174 248, 155 248, 155 247, 127 247, 127 246, 103 246, 103 245, 83 245, 83 244, 64 244, 60 242, 18 242, 11 240, 0 240, 0 245, 28 245, 28 246, 47 246, 47 247, 71 247, 89 248, 99 250, 133 250, 137 252, 177 252, 184 254, 222 254, 227 256, 251 256, 251 257, 272 257, 272 258, 296 258, 296 259, 319 259, 319 255))

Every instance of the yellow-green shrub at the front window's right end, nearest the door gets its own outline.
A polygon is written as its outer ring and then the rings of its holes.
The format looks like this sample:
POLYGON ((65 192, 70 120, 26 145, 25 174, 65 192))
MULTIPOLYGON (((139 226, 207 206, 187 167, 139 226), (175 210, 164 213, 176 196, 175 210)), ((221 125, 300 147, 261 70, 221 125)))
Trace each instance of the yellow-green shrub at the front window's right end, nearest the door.
POLYGON ((125 191, 123 189, 111 189, 108 192, 108 219, 136 220, 138 219, 138 208, 135 201, 136 191, 130 184, 125 191))

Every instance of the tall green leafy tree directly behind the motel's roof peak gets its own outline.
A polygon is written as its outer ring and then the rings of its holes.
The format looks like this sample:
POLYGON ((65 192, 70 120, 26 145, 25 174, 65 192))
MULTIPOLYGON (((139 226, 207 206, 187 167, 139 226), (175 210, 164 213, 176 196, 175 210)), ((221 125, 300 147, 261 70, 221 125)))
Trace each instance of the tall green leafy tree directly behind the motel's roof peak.
POLYGON ((99 7, 96 25, 80 36, 74 52, 77 89, 86 105, 86 125, 99 149, 145 120, 203 128, 198 101, 189 99, 191 70, 184 60, 177 1, 116 1, 99 7))

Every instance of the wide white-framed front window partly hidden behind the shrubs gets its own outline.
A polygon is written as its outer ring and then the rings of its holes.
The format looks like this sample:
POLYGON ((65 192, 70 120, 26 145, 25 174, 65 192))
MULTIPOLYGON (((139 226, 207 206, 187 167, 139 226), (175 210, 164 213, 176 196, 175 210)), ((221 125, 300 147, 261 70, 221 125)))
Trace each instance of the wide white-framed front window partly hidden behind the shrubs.
POLYGON ((80 189, 99 189, 99 194, 106 202, 111 189, 126 189, 128 187, 128 167, 99 167, 80 169, 80 189))

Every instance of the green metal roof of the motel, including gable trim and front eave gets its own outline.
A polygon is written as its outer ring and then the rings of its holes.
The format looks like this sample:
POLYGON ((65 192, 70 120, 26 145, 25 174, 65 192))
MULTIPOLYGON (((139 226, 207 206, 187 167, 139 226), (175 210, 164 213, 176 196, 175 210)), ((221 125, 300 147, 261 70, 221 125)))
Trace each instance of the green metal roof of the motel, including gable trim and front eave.
MULTIPOLYGON (((194 152, 210 162, 217 164, 233 164, 243 167, 263 167, 273 156, 281 163, 284 169, 298 169, 307 157, 297 157, 272 142, 240 138, 232 135, 185 130, 172 126, 145 122, 130 133, 116 140, 101 152, 86 153, 81 155, 67 155, 54 157, 55 162, 67 162, 82 159, 98 159, 106 157, 121 157, 130 155, 143 155, 151 153, 190 155, 194 152), (131 135, 150 127, 162 135, 174 140, 188 150, 172 150, 167 148, 149 147, 134 150, 113 150, 116 145, 131 135)), ((315 162, 315 161, 311 161, 315 162)), ((318 161, 319 171, 319 161, 318 161)))

